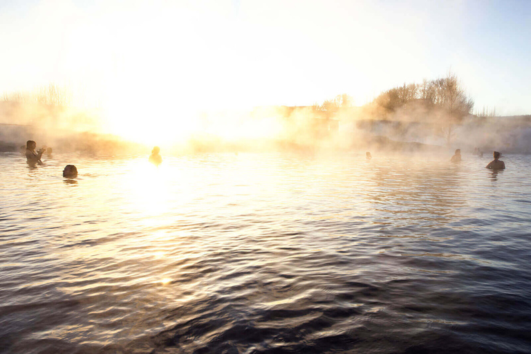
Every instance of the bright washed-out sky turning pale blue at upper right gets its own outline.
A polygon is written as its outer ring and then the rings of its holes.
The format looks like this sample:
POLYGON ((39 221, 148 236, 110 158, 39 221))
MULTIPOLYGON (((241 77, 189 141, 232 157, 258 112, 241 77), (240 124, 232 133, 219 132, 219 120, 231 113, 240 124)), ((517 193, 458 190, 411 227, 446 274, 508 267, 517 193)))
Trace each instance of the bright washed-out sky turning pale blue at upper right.
POLYGON ((361 105, 460 77, 476 109, 531 114, 531 1, 0 2, 0 92, 59 82, 185 109, 361 105))

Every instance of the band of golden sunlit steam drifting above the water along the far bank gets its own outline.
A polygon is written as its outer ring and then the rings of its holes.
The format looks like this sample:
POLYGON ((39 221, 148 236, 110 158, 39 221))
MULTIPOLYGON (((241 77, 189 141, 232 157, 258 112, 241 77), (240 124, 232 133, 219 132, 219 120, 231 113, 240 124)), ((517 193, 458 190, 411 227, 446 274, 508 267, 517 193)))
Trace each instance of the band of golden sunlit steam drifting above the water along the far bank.
POLYGON ((333 114, 314 107, 263 106, 252 110, 192 111, 134 104, 107 109, 75 109, 46 104, 0 102, 0 140, 10 149, 36 140, 57 151, 163 154, 204 151, 371 150, 448 153, 447 149, 485 153, 531 152, 531 117, 478 118, 469 115, 445 145, 443 112, 409 105, 387 119, 366 107, 333 114), (123 108, 123 109, 122 109, 123 108))

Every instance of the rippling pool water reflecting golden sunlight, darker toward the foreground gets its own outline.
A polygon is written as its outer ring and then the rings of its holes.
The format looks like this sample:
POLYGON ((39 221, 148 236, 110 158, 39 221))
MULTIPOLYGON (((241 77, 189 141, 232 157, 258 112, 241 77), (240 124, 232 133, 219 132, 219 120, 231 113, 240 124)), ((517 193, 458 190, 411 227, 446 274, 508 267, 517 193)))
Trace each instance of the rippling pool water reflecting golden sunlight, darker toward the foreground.
POLYGON ((531 158, 489 160, 1 154, 0 352, 530 353, 531 158))

